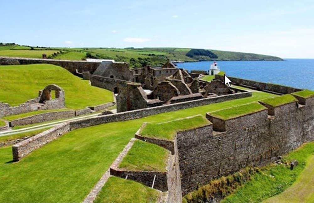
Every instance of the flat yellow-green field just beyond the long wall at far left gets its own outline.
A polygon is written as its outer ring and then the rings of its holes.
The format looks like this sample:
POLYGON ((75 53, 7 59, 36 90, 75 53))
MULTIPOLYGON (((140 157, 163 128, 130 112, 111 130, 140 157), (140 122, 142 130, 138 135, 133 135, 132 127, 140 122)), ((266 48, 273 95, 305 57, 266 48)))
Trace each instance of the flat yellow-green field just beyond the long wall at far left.
POLYGON ((0 56, 42 58, 43 54, 47 56, 57 52, 57 50, 1 50, 0 56))

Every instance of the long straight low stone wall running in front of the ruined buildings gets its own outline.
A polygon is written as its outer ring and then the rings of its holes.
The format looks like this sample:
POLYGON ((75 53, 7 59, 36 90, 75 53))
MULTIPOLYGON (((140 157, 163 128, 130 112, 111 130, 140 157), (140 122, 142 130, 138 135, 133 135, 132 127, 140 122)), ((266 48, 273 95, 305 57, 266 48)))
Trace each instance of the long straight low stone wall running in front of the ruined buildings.
POLYGON ((74 130, 74 129, 88 127, 88 126, 100 125, 103 123, 138 119, 138 118, 143 118, 146 116, 165 113, 169 111, 188 109, 192 107, 213 104, 213 103, 223 102, 223 101, 232 100, 232 99, 241 99, 241 98, 250 97, 250 96, 252 96, 252 92, 242 92, 242 93, 228 94, 228 95, 222 95, 222 96, 205 98, 205 99, 198 99, 198 100, 176 103, 176 104, 168 104, 164 106, 156 106, 156 107, 147 108, 147 109, 126 111, 126 112, 121 112, 121 113, 112 114, 112 115, 98 116, 96 118, 88 118, 84 120, 72 121, 70 122, 70 128, 71 130, 74 130))

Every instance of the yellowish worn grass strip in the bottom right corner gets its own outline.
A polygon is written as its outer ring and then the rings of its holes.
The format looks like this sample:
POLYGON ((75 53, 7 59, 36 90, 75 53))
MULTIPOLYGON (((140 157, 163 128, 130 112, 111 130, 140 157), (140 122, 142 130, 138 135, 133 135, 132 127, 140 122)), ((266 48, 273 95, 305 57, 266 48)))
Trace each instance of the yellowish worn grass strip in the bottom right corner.
POLYGON ((265 202, 314 202, 314 154, 307 158, 306 168, 284 192, 265 202))

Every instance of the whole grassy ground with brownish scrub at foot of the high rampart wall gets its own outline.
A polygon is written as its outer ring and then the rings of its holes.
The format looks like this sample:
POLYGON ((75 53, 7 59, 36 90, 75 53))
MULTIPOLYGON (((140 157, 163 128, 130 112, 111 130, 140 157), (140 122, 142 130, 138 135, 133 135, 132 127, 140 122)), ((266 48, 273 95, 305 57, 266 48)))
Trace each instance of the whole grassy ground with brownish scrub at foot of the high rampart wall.
POLYGON ((261 202, 294 183, 267 202, 313 202, 313 147, 314 142, 310 142, 284 156, 282 162, 287 165, 270 163, 261 168, 244 168, 235 174, 212 180, 187 194, 183 201, 209 202, 212 197, 219 196, 224 198, 221 202, 261 202), (290 170, 289 163, 293 160, 298 160, 299 164, 290 170))

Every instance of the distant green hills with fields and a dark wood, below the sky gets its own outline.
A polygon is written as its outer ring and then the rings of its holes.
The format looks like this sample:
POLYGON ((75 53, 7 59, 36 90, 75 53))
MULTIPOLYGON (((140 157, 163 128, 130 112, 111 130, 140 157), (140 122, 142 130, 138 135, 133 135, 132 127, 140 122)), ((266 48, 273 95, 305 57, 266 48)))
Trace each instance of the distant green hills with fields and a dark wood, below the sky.
POLYGON ((16 44, 3 45, 0 43, 0 56, 41 58, 44 53, 48 58, 52 59, 114 59, 115 61, 128 62, 131 67, 141 67, 148 64, 160 66, 165 63, 167 58, 173 61, 282 60, 276 56, 261 54, 191 48, 53 48, 21 46, 16 44))

